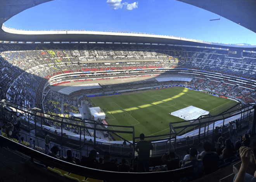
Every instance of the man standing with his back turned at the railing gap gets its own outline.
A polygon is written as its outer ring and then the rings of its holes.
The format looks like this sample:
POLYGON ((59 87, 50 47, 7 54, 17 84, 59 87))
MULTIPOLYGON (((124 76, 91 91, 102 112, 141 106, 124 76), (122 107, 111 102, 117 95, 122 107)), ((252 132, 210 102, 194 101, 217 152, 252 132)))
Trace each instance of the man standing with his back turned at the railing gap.
POLYGON ((145 135, 140 134, 140 141, 135 147, 135 151, 138 153, 137 172, 141 172, 141 168, 144 168, 145 172, 149 172, 150 150, 153 149, 153 145, 150 141, 144 139, 145 135))

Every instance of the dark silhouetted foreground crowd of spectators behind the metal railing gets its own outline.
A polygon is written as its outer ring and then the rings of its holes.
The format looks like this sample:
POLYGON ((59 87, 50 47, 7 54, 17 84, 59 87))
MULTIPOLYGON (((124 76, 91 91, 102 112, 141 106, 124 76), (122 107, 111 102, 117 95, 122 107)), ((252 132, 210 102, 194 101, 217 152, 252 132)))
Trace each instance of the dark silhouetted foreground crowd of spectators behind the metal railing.
MULTIPOLYGON (((180 156, 174 152, 170 151, 165 153, 161 158, 161 162, 164 164, 161 166, 161 171, 192 166, 194 168, 194 173, 189 177, 181 179, 182 182, 192 181, 202 175, 207 175, 216 171, 223 164, 226 166, 230 163, 228 163, 230 160, 240 160, 240 156, 242 158, 242 153, 236 151, 236 148, 241 150, 251 144, 249 131, 248 134, 245 134, 242 137, 241 141, 238 140, 241 143, 240 146, 237 146, 238 141, 234 145, 229 139, 229 136, 221 137, 223 138, 223 143, 220 147, 216 148, 216 143, 205 141, 202 144, 203 151, 201 151, 201 153, 197 148, 190 146, 187 150, 188 155, 186 155, 183 160, 180 160, 180 156)), ((67 150, 67 157, 63 157, 57 146, 51 148, 51 153, 49 153, 49 155, 69 163, 100 170, 113 172, 152 172, 154 171, 152 170, 152 167, 147 165, 149 164, 150 150, 153 149, 153 146, 149 141, 145 141, 144 138, 144 135, 141 134, 140 142, 137 143, 135 148, 138 152, 138 157, 136 157, 135 160, 131 160, 130 163, 125 159, 122 159, 118 164, 117 159, 111 159, 111 154, 108 151, 104 152, 103 158, 99 158, 99 153, 97 153, 95 149, 90 151, 88 157, 82 156, 81 160, 72 156, 72 151, 70 149, 67 150)))

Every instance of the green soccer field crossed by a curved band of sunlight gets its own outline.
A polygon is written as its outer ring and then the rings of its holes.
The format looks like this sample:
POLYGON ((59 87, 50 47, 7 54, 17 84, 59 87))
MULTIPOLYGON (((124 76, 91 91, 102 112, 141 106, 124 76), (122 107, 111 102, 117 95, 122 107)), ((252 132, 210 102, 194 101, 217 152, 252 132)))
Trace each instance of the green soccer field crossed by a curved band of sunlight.
MULTIPOLYGON (((101 109, 106 109, 104 112, 109 124, 134 126, 135 136, 139 136, 140 133, 144 133, 145 136, 169 133, 170 122, 183 120, 169 113, 188 106, 195 106, 209 111, 211 115, 218 115, 237 104, 233 100, 184 87, 91 98, 89 101, 101 109)), ((131 134, 119 135, 128 140, 132 139, 131 134)))

